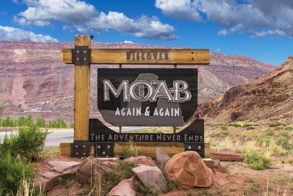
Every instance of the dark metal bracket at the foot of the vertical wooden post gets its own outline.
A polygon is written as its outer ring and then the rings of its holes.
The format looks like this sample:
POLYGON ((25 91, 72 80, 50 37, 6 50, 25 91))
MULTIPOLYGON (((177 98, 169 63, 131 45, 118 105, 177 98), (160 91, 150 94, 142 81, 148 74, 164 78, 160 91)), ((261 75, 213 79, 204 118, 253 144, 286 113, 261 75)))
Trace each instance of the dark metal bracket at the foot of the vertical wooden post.
POLYGON ((74 140, 71 144, 71 157, 88 157, 90 155, 90 144, 87 140, 74 140))

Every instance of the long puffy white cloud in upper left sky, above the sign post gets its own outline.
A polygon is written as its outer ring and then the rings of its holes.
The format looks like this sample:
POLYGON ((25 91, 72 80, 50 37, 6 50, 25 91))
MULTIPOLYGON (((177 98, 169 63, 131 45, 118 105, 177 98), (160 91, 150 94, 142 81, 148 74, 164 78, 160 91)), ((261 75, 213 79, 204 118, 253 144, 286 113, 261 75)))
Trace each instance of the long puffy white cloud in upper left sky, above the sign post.
MULTIPOLYGON (((23 0, 28 6, 14 21, 22 26, 52 26, 53 21, 67 23, 82 33, 108 32, 115 29, 120 33, 130 33, 136 37, 173 40, 178 39, 174 35, 175 29, 169 24, 162 23, 156 16, 141 15, 131 19, 123 13, 109 11, 108 14, 98 12, 95 7, 79 0, 23 0)), ((62 27, 63 28, 63 27, 62 27)))

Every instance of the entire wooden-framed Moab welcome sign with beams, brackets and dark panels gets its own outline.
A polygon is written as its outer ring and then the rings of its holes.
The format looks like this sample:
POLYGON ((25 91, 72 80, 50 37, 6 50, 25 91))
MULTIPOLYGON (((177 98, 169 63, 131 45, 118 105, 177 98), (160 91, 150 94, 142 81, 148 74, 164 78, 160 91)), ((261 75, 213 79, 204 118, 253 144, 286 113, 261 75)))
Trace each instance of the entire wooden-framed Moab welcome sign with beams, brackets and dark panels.
POLYGON ((156 147, 168 155, 186 150, 209 157, 204 120, 197 109, 197 69, 98 68, 98 109, 115 126, 171 126, 173 133, 117 133, 98 119, 89 119, 90 65, 208 65, 207 49, 91 49, 91 37, 78 34, 74 49, 62 49, 64 63, 74 64, 74 142, 61 143, 59 155, 99 157, 122 155, 129 140, 142 154, 155 157, 156 147))

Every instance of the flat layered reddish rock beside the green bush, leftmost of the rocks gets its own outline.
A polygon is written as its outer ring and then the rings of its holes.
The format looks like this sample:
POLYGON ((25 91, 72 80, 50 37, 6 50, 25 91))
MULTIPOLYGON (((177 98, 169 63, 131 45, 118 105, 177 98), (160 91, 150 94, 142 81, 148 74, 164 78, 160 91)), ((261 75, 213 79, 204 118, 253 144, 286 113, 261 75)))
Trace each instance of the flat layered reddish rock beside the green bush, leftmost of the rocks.
POLYGON ((51 190, 55 186, 59 185, 59 177, 67 178, 71 174, 71 171, 76 171, 80 165, 78 162, 65 162, 65 161, 49 161, 48 165, 53 166, 48 172, 40 175, 35 180, 34 187, 51 190))

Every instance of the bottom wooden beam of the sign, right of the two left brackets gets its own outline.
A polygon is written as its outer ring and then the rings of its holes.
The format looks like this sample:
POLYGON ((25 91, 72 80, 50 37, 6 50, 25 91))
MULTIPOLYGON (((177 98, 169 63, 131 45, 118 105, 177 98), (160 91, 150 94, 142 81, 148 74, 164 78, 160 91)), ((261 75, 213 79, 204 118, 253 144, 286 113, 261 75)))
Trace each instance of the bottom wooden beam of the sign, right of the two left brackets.
MULTIPOLYGON (((115 142, 114 155, 122 156, 127 144, 125 142, 115 142)), ((136 142, 134 144, 140 148, 142 155, 153 158, 156 157, 156 147, 161 148, 169 156, 184 152, 184 143, 136 142)), ((209 158, 209 143, 205 143, 205 157, 209 158)))

